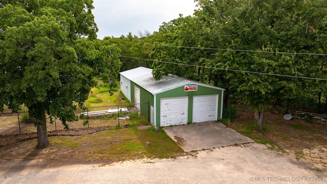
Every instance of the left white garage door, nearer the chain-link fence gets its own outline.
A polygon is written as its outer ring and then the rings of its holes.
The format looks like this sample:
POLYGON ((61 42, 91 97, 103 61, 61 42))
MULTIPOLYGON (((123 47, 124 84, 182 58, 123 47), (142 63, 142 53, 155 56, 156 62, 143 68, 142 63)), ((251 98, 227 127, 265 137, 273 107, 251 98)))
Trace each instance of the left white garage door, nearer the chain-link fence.
POLYGON ((188 124, 188 97, 160 99, 160 126, 188 124))

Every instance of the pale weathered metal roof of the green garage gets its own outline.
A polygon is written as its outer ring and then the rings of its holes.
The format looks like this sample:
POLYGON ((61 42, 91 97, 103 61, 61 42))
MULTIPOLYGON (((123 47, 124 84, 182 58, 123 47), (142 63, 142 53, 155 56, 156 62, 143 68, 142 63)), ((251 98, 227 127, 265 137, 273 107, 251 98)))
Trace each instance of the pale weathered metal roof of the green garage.
POLYGON ((137 67, 125 72, 121 72, 121 75, 129 76, 129 80, 136 83, 137 85, 143 87, 147 91, 149 91, 152 95, 156 95, 159 93, 163 93, 165 91, 181 87, 184 85, 190 85, 190 84, 197 84, 200 86, 225 90, 220 87, 204 84, 197 81, 188 80, 182 77, 168 75, 168 76, 162 76, 160 80, 155 80, 152 76, 152 70, 150 68, 146 67, 137 67), (149 72, 150 71, 150 72, 149 72))

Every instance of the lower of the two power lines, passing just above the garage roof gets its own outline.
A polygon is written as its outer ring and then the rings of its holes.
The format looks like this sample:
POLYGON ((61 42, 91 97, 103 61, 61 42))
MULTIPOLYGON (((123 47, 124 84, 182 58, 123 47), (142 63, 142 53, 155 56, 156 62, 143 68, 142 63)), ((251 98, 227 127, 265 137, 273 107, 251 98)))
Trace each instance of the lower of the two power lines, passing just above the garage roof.
POLYGON ((139 60, 146 60, 146 61, 169 63, 169 64, 178 64, 178 65, 184 65, 184 66, 203 67, 203 68, 210 68, 210 69, 216 69, 216 70, 225 70, 225 71, 231 71, 231 72, 244 72, 244 73, 250 73, 250 74, 262 74, 262 75, 270 75, 270 76, 278 76, 278 77, 290 77, 290 78, 299 78, 299 79, 311 79, 311 80, 324 80, 324 81, 327 81, 327 79, 322 79, 322 78, 300 77, 300 76, 281 75, 281 74, 269 74, 269 73, 263 73, 263 72, 242 71, 242 70, 217 68, 217 67, 210 67, 210 66, 199 66, 199 65, 194 65, 194 64, 184 64, 184 63, 174 63, 174 62, 168 62, 168 61, 158 61, 158 60, 152 60, 152 59, 143 59, 143 58, 136 58, 136 57, 130 57, 130 56, 121 56, 121 57, 126 57, 126 58, 131 58, 131 59, 139 59, 139 60))

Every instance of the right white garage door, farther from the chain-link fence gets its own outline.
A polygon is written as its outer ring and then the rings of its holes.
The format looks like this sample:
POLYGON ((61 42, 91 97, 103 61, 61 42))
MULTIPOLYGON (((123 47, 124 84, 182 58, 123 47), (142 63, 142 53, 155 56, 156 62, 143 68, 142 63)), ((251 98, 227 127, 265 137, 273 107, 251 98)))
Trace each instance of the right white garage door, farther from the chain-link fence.
POLYGON ((218 95, 193 97, 193 123, 217 120, 218 95))

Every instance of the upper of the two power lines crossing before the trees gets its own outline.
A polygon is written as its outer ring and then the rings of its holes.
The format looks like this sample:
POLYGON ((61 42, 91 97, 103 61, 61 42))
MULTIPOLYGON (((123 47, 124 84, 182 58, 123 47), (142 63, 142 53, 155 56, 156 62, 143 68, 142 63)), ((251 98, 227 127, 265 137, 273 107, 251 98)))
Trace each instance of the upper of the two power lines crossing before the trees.
MULTIPOLYGON (((113 41, 119 43, 132 43, 127 41, 113 41)), ((327 54, 317 54, 317 53, 294 53, 294 52, 275 52, 275 51, 252 51, 252 50, 238 50, 238 49, 218 49, 218 48, 201 48, 201 47, 187 47, 187 46, 177 46, 177 45, 165 45, 165 44, 150 44, 150 43, 136 43, 144 45, 154 45, 162 47, 174 47, 174 48, 186 48, 186 49, 201 49, 201 50, 216 50, 216 51, 235 51, 235 52, 253 52, 253 53, 269 53, 269 54, 290 54, 290 55, 311 55, 311 56, 327 56, 327 54)))

